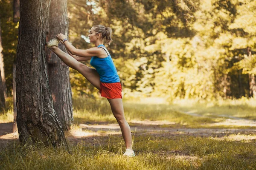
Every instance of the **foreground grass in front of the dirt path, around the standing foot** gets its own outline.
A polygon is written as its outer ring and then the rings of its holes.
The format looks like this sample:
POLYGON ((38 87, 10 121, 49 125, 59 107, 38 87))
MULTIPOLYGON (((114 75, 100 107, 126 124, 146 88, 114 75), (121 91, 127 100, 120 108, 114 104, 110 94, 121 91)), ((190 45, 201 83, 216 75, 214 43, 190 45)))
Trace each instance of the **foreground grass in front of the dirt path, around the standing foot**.
POLYGON ((51 170, 188 170, 255 169, 255 140, 219 141, 211 137, 138 135, 134 137, 134 158, 122 157, 121 136, 108 137, 101 144, 70 144, 69 153, 44 146, 9 144, 0 150, 3 169, 51 170))

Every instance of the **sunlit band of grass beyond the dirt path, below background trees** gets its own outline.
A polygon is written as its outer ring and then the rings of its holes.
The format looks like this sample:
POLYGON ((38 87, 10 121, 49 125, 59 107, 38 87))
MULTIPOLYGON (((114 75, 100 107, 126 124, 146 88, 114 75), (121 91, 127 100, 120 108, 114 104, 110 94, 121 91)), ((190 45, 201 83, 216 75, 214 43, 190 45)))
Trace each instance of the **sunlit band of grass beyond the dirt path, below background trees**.
MULTIPOLYGON (((256 118, 255 99, 227 100, 222 102, 198 102, 195 100, 179 100, 172 105, 140 104, 140 102, 124 102, 126 120, 132 125, 136 121, 174 122, 174 125, 162 127, 190 128, 255 128, 250 125, 221 125, 229 117, 238 116, 246 119, 256 118), (190 112, 189 112, 190 111, 190 112), (198 116, 186 114, 195 113, 198 116), (240 113, 241 112, 241 113, 240 113), (250 115, 250 116, 248 116, 250 115)), ((73 99, 74 125, 116 123, 110 105, 105 98, 73 99)), ((4 113, 0 114, 0 123, 13 122, 12 98, 8 99, 4 113)))

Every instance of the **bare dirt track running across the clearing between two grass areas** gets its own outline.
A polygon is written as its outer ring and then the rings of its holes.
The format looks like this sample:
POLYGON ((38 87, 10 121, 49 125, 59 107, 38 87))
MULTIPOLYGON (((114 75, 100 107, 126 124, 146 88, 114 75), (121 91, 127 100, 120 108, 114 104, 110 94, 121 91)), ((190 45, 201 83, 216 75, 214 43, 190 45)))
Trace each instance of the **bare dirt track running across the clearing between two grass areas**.
MULTIPOLYGON (((200 115, 193 115, 200 116, 200 115)), ((132 136, 136 142, 137 136, 154 136, 154 137, 172 137, 177 136, 194 136, 194 137, 213 137, 219 140, 253 140, 256 139, 256 121, 246 120, 233 117, 220 123, 208 123, 207 128, 189 128, 186 125, 177 125, 175 122, 166 121, 131 121, 132 136), (226 125, 230 128, 218 128, 216 125, 226 125), (233 125, 240 125, 239 128, 233 125), (252 128, 241 128, 241 127, 252 128), (213 127, 213 128, 211 128, 213 127), (253 128, 254 127, 254 128, 253 128)), ((0 147, 18 139, 18 134, 12 133, 13 123, 0 123, 0 147)), ((122 140, 121 130, 118 124, 108 124, 106 122, 94 122, 93 124, 80 124, 79 128, 75 127, 66 132, 68 141, 72 144, 84 142, 89 145, 105 144, 111 139, 111 136, 117 136, 122 140)), ((188 159, 189 156, 187 156, 188 159)))

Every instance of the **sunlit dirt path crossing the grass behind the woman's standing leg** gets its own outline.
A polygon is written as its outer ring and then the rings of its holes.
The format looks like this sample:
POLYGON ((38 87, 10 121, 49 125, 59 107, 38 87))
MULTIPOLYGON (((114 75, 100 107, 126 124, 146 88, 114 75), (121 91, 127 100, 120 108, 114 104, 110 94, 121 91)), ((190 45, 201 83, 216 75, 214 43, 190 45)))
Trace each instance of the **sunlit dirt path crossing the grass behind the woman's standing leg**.
MULTIPOLYGON (((247 120, 241 119, 227 119, 226 122, 221 122, 225 125, 229 122, 229 125, 247 125, 247 120), (245 122, 244 122, 245 121, 245 122)), ((219 124, 221 124, 219 123, 219 124)), ((223 138, 230 134, 239 134, 246 136, 256 136, 256 129, 218 129, 218 128, 186 128, 186 127, 161 127, 161 125, 175 125, 174 122, 163 122, 163 121, 133 121, 130 123, 132 134, 135 136, 141 135, 153 135, 162 137, 172 137, 179 135, 189 135, 189 136, 201 136, 209 137, 214 136, 218 138, 223 138)), ((217 123, 215 123, 216 125, 217 123)), ((12 123, 1 123, 0 124, 0 146, 8 144, 14 140, 17 140, 17 133, 12 133, 12 123)), ((214 123, 212 124, 214 125, 214 123)), ((250 122, 251 126, 256 126, 255 122, 250 122)), ((79 128, 72 129, 69 133, 66 133, 67 139, 71 143, 95 143, 96 141, 100 143, 102 140, 108 139, 110 135, 117 135, 121 137, 121 130, 118 124, 105 124, 99 123, 98 125, 86 125, 80 124, 79 128)), ((255 137, 256 138, 256 137, 255 137)), ((240 139, 240 138, 239 138, 240 139)), ((250 137, 254 139, 254 137, 250 137)), ((96 142, 96 143, 97 143, 96 142)))

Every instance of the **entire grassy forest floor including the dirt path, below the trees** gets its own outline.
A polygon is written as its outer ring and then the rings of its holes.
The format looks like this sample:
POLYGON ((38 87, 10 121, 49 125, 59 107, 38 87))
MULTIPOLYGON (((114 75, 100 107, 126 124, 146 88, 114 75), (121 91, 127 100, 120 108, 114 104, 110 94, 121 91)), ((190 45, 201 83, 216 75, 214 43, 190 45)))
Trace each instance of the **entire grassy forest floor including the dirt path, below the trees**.
MULTIPOLYGON (((2 122, 0 166, 19 169, 22 163, 23 169, 59 169, 60 164, 62 169, 256 169, 254 105, 189 108, 126 102, 125 117, 136 155, 126 160, 121 157, 125 150, 121 130, 108 103, 88 104, 84 109, 85 102, 79 101, 74 102, 73 126, 65 132, 72 154, 50 148, 26 147, 24 151, 15 144, 18 136, 12 132, 13 123, 2 122)), ((9 114, 8 120, 12 120, 9 114)))

